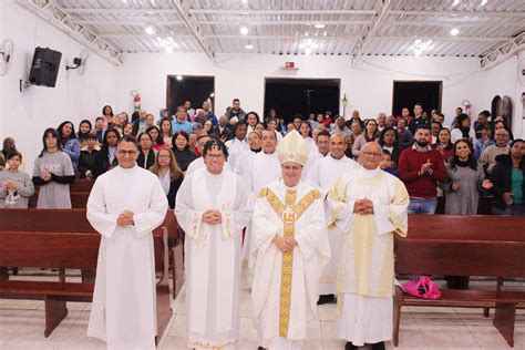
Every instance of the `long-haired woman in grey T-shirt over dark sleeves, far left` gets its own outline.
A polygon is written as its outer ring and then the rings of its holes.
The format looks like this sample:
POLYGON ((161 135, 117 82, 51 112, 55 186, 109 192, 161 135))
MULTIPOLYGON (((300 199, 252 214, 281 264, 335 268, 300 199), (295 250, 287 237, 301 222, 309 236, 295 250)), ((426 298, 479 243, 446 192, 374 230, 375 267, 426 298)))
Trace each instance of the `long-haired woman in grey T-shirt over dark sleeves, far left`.
POLYGON ((74 182, 74 169, 71 158, 62 152, 59 132, 47 128, 42 144, 33 167, 33 184, 40 186, 37 208, 71 209, 69 185, 74 182))

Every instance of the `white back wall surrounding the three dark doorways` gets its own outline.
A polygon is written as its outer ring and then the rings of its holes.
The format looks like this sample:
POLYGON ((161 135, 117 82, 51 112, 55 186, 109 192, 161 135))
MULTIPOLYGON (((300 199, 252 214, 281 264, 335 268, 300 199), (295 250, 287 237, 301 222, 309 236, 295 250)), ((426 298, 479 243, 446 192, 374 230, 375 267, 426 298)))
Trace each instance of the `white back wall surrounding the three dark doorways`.
MULTIPOLYGON (((452 117, 465 99, 474 113, 490 106, 482 94, 484 73, 480 60, 473 58, 364 58, 350 70, 348 56, 279 56, 259 54, 219 55, 214 65, 200 53, 134 53, 124 58, 117 68, 119 109, 131 110, 128 92, 137 90, 142 105, 158 111, 166 104, 166 75, 215 75, 215 111, 222 113, 234 97, 241 101, 245 111, 259 114, 264 107, 265 78, 326 78, 341 80, 341 99, 347 94, 347 115, 358 109, 363 117, 392 109, 393 80, 442 80, 442 110, 452 117), (295 61, 298 71, 281 70, 286 61, 295 61)), ((340 111, 342 113, 342 111, 340 111)), ((449 121, 450 123, 450 121, 449 121)))

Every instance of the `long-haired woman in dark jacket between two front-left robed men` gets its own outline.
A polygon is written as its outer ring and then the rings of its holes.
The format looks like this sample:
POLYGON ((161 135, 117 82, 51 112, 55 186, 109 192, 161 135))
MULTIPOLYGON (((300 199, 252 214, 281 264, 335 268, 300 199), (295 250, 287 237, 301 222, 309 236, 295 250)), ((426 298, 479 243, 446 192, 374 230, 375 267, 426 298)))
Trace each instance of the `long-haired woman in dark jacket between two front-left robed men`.
POLYGON ((175 208, 175 197, 178 192, 178 187, 183 183, 184 175, 183 171, 178 167, 175 161, 175 155, 169 148, 158 150, 155 157, 155 164, 150 171, 158 176, 162 188, 167 197, 169 208, 175 208))

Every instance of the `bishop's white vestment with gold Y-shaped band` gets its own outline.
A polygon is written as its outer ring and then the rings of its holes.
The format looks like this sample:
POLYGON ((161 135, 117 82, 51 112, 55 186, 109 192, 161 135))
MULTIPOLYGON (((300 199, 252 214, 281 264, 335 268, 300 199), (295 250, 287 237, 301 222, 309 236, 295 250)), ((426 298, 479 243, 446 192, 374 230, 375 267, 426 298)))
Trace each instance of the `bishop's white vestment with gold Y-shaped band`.
POLYGON ((259 192, 250 257, 259 346, 271 350, 302 347, 307 323, 317 318, 319 276, 330 259, 320 193, 307 183, 290 188, 278 179, 259 192), (298 247, 280 251, 272 243, 276 235, 295 237, 298 247))

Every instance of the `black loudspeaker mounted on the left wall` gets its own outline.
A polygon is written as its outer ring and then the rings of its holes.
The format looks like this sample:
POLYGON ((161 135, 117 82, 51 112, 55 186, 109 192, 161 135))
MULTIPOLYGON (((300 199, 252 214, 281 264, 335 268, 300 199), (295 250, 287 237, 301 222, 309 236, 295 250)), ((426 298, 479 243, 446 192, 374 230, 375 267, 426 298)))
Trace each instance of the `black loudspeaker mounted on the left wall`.
POLYGON ((37 48, 31 63, 29 82, 33 85, 54 87, 61 59, 62 52, 49 48, 37 48))

